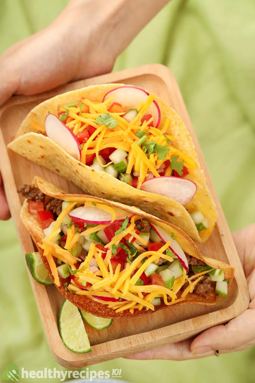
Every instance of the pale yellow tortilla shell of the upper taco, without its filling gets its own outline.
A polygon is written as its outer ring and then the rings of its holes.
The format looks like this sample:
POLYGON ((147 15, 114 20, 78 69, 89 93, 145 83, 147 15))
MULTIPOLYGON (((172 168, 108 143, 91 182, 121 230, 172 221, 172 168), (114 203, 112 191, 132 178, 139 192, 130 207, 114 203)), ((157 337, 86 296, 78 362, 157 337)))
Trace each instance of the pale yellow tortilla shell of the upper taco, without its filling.
POLYGON ((130 206, 138 206, 138 208, 143 211, 154 214, 164 221, 178 226, 193 239, 199 242, 206 241, 216 221, 215 204, 206 185, 206 179, 198 162, 194 144, 184 122, 177 113, 159 97, 155 97, 161 110, 159 128, 162 128, 166 118, 169 117, 171 123, 169 125, 168 134, 174 136, 176 139, 173 146, 192 158, 197 165, 196 169, 189 169, 190 173, 186 177, 195 182, 197 192, 192 200, 185 206, 182 206, 171 198, 137 190, 106 172, 99 172, 98 170, 92 169, 71 157, 65 150, 49 139, 49 137, 35 133, 34 124, 44 126, 44 120, 48 111, 57 115, 59 105, 79 101, 81 97, 101 103, 104 95, 109 92, 109 90, 122 85, 123 84, 92 85, 63 93, 42 102, 30 111, 22 122, 16 139, 12 141, 8 147, 27 159, 62 175, 89 195, 107 198, 111 201, 130 206), (31 123, 33 123, 33 126, 31 123), (206 230, 198 232, 189 214, 194 210, 200 211, 208 220, 209 226, 206 230))

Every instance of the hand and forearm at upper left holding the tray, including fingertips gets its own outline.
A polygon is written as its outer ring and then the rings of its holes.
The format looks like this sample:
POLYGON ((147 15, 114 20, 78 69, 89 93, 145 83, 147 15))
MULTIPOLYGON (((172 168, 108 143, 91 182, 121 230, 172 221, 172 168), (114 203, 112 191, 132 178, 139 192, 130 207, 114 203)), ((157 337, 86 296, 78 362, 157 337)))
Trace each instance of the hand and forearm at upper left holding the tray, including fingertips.
MULTIPOLYGON (((0 105, 13 94, 33 95, 111 72, 117 56, 168 1, 71 0, 52 24, 0 57, 0 105)), ((8 218, 0 186, 0 219, 8 218)))

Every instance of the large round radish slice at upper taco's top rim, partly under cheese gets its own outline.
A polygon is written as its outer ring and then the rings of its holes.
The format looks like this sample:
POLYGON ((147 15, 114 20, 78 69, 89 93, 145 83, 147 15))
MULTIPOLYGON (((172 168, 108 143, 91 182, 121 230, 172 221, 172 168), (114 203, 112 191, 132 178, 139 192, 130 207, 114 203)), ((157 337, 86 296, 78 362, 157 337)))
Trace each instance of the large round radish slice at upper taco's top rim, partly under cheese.
MULTIPOLYGON (((125 109, 130 110, 137 109, 141 102, 145 103, 149 93, 142 88, 133 87, 132 85, 125 85, 123 87, 114 88, 106 93, 103 102, 112 96, 114 96, 114 100, 112 102, 118 102, 125 107, 125 109)), ((146 110, 146 114, 153 116, 153 126, 158 128, 161 119, 161 112, 158 103, 155 100, 151 103, 149 109, 146 110)))

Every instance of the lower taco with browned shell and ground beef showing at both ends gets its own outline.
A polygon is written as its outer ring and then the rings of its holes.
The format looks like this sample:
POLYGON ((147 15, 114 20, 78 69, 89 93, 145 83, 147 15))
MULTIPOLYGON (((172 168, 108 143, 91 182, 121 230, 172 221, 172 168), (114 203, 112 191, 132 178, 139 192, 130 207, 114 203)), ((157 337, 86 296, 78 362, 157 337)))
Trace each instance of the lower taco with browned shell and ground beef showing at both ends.
POLYGON ((122 318, 226 298, 234 268, 203 257, 176 226, 135 207, 64 194, 39 177, 18 192, 26 196, 21 220, 50 277, 80 309, 122 318))

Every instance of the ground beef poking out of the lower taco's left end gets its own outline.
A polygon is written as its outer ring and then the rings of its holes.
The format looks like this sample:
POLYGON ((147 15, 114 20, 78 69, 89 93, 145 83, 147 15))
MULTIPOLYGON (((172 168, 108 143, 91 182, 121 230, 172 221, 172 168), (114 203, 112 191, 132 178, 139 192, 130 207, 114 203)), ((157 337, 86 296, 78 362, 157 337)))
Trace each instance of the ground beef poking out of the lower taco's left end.
POLYGON ((21 193, 23 197, 29 201, 44 202, 44 209, 50 211, 52 214, 59 216, 62 211, 62 200, 57 198, 50 198, 45 200, 45 194, 35 187, 34 185, 23 185, 18 188, 18 193, 21 193))

